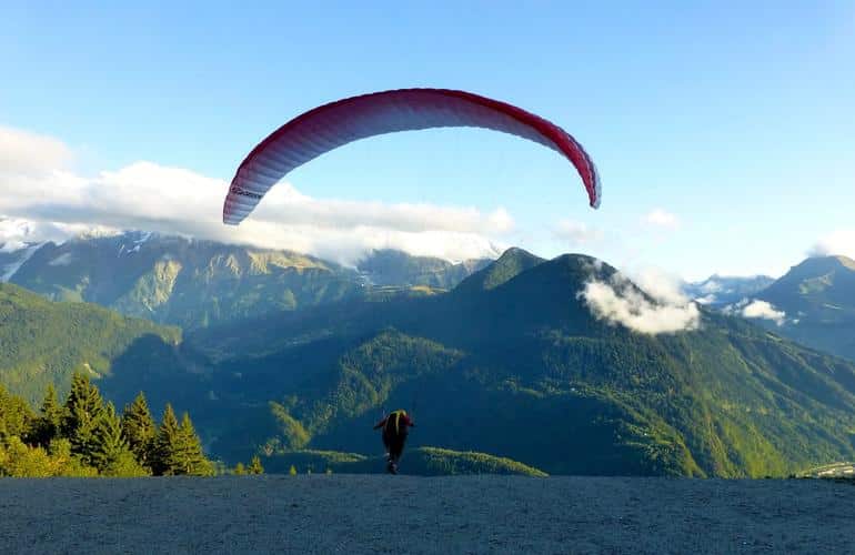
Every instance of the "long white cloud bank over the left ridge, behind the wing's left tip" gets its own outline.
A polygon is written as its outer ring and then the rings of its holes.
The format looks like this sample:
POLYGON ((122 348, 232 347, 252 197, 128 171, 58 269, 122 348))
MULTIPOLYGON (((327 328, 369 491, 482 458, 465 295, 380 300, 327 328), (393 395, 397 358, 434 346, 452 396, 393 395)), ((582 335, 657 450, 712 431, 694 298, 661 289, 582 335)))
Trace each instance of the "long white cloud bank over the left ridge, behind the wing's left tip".
MULTIPOLYGON (((514 226, 501 206, 484 213, 475 208, 319 200, 289 183, 274 186, 240 226, 227 226, 222 202, 228 183, 222 180, 151 162, 81 176, 62 168, 68 149, 58 141, 17 131, 8 135, 13 140, 0 143, 6 149, 0 152, 0 214, 19 226, 36 222, 28 224, 36 231, 27 233, 12 232, 9 224, 7 235, 18 238, 18 244, 24 236, 56 241, 100 226, 290 249, 344 263, 385 248, 456 261, 497 255, 504 246, 501 236, 514 226), (40 144, 52 153, 37 160, 28 153, 40 144)), ((2 234, 0 228, 0 241, 2 234)))

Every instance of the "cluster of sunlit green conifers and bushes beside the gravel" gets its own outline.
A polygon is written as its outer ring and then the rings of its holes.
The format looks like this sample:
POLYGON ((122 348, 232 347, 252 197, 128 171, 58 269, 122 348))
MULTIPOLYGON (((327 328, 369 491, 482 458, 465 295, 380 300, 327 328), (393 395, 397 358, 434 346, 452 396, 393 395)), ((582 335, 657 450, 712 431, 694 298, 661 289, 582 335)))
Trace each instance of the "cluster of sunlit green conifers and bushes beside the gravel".
MULTIPOLYGON (((253 460, 239 473, 260 474, 253 460)), ((89 377, 76 373, 63 404, 48 385, 36 413, 0 385, 0 476, 210 476, 188 413, 167 404, 155 424, 142 392, 121 415, 89 377)))

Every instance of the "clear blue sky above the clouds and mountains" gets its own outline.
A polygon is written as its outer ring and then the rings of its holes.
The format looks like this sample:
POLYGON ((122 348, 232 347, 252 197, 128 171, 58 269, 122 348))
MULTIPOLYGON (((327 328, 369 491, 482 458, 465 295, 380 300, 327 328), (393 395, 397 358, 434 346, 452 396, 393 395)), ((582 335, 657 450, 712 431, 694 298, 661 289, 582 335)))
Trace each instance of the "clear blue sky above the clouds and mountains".
POLYGON ((314 105, 454 88, 573 133, 601 210, 554 152, 477 130, 353 143, 289 182, 319 200, 501 208, 514 225, 499 244, 692 279, 855 254, 853 2, 32 4, 4 2, 0 125, 61 142, 80 179, 148 161, 229 180, 314 105))

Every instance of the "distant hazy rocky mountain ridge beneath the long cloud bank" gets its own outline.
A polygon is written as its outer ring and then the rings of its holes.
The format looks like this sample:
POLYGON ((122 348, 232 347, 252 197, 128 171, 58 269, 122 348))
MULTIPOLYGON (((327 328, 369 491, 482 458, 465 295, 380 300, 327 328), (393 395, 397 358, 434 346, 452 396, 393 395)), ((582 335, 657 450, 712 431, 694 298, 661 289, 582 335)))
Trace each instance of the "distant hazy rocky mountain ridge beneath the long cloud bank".
POLYGON ((362 296, 384 286, 450 289, 486 263, 452 264, 384 250, 345 268, 290 251, 149 232, 0 250, 3 281, 54 301, 97 303, 185 330, 362 296))

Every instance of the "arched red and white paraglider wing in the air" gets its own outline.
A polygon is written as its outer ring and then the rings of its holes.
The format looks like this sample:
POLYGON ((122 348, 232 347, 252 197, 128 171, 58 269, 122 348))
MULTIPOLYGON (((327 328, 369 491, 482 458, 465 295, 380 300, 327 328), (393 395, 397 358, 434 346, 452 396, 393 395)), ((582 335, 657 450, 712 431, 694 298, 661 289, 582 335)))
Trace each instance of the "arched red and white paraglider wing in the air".
POLYGON ((591 206, 600 205, 594 163, 582 145, 554 123, 470 92, 402 89, 324 104, 271 133, 238 168, 223 204, 223 223, 239 224, 291 170, 343 144, 396 131, 449 127, 491 129, 555 150, 576 168, 591 206))

